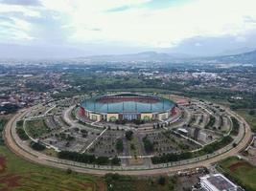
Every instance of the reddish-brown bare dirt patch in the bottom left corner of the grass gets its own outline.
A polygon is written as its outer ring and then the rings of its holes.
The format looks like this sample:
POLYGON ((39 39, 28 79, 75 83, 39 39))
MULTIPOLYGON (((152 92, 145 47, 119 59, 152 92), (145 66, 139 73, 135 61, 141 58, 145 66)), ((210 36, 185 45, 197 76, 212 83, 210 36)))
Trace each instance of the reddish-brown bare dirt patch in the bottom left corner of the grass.
POLYGON ((0 189, 0 191, 11 190, 13 187, 19 186, 20 179, 21 179, 21 176, 19 175, 7 175, 4 177, 0 177, 0 183, 6 185, 6 187, 3 189, 0 189))

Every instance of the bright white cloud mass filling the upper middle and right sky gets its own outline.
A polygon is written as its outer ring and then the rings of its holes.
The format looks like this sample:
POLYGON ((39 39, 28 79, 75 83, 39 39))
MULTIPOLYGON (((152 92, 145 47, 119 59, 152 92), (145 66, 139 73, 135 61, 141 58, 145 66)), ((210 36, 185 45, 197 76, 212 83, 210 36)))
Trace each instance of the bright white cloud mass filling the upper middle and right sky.
MULTIPOLYGON (((195 36, 239 36, 256 28, 252 22, 256 20, 255 0, 191 0, 160 10, 142 6, 149 1, 42 0, 43 8, 1 5, 0 12, 18 9, 39 17, 43 11, 55 11, 54 19, 65 21, 59 32, 71 32, 66 37, 70 43, 171 47, 195 36), (109 11, 122 7, 130 9, 109 11)), ((28 28, 20 24, 23 28, 29 35, 28 28)))

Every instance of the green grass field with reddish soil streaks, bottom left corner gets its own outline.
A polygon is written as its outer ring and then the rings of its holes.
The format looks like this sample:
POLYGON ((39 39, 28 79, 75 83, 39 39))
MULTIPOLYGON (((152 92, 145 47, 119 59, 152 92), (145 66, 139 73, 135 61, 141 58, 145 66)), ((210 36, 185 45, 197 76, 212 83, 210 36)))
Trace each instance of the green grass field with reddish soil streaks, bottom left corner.
POLYGON ((17 158, 5 146, 0 146, 0 161, 0 190, 105 190, 101 178, 33 164, 17 158))

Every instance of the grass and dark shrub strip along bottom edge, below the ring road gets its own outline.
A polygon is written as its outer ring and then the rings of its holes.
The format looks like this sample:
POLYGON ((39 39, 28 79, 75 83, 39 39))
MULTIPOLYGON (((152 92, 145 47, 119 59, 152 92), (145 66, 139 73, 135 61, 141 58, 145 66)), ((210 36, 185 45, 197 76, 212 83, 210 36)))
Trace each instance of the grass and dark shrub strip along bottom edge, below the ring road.
POLYGON ((70 173, 30 163, 0 146, 1 191, 170 191, 177 186, 174 177, 165 177, 163 184, 158 180, 159 177, 138 179, 128 176, 109 180, 70 173))

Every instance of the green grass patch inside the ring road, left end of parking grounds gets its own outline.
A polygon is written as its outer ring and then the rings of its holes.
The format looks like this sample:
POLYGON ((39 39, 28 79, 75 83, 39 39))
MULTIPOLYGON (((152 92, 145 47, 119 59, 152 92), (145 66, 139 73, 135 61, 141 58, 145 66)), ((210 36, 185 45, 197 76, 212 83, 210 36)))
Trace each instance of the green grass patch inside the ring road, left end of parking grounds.
POLYGON ((50 132, 43 119, 26 121, 26 131, 32 138, 39 138, 40 136, 50 132))

